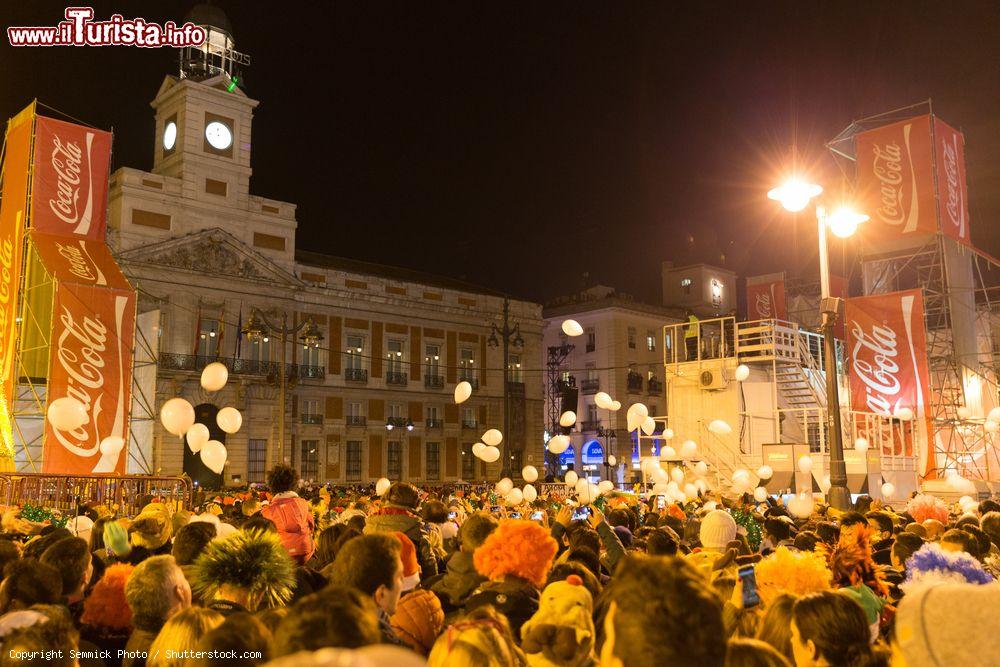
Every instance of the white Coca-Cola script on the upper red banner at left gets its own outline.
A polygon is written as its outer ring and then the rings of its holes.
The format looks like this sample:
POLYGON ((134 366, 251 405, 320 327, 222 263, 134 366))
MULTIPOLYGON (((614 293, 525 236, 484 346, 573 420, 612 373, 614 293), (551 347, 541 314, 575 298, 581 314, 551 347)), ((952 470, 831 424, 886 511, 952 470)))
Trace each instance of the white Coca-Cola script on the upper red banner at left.
POLYGON ((74 225, 75 234, 86 234, 90 229, 94 206, 94 175, 90 173, 91 149, 94 133, 86 133, 86 153, 76 141, 64 141, 59 135, 52 135, 50 164, 56 176, 55 197, 49 199, 49 208, 57 218, 68 225, 74 225), (86 176, 87 198, 80 206, 80 190, 86 176))

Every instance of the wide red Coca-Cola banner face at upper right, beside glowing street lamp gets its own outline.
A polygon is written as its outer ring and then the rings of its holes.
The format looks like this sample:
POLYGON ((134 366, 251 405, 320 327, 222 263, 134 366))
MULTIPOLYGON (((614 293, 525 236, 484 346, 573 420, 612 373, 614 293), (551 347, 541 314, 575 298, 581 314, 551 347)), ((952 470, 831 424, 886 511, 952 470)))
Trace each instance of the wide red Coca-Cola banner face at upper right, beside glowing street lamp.
POLYGON ((931 117, 918 116, 855 137, 858 195, 871 241, 934 234, 937 202, 931 117))

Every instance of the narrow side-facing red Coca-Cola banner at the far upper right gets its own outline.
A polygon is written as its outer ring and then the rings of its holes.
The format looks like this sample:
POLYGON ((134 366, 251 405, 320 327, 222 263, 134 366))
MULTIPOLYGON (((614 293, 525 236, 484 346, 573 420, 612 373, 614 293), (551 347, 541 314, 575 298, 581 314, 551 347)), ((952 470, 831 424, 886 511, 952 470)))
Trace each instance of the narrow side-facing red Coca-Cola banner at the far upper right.
POLYGON ((946 236, 971 246, 969 192, 965 181, 965 137, 948 123, 935 118, 934 142, 941 231, 946 236))

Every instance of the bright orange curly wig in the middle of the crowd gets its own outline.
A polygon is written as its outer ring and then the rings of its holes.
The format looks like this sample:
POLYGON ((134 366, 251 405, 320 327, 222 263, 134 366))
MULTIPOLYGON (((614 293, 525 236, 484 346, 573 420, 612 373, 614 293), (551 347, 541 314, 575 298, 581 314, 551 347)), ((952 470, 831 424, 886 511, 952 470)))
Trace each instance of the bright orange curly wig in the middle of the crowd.
POLYGON ((558 550, 549 531, 534 521, 505 519, 476 549, 472 560, 479 574, 491 581, 515 576, 541 588, 558 550))

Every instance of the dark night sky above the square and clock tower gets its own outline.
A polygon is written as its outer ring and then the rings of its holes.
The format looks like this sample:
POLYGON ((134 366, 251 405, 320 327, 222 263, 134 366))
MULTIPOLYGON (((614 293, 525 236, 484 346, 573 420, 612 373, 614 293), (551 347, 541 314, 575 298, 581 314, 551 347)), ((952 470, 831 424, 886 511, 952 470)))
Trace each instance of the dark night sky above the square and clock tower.
MULTIPOLYGON (((585 282, 658 299, 665 259, 812 275, 808 221, 796 252, 764 193, 793 154, 840 189, 826 141, 933 98, 965 132, 973 240, 1000 255, 995 2, 215 4, 253 59, 251 190, 298 204, 301 248, 539 301, 585 282)), ((4 27, 64 7, 6 2, 4 27)), ((174 73, 167 49, 4 35, 0 113, 38 97, 114 128, 115 167, 148 169, 149 101, 174 73)))

